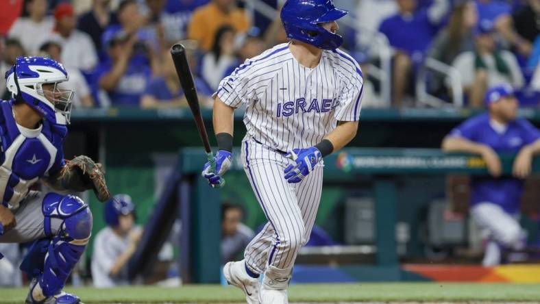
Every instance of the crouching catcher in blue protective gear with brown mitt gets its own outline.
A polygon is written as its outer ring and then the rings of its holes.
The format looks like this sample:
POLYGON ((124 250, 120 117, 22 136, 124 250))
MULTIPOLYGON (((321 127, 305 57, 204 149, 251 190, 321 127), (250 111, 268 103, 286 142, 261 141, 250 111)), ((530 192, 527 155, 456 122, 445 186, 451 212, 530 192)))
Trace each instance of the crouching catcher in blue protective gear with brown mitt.
POLYGON ((79 303, 62 289, 90 238, 92 213, 73 195, 29 189, 42 179, 55 190, 92 189, 106 201, 103 171, 86 156, 64 161, 73 91, 61 88, 62 64, 17 58, 5 79, 12 99, 0 102, 0 242, 33 242, 21 263, 32 278, 26 303, 79 303))

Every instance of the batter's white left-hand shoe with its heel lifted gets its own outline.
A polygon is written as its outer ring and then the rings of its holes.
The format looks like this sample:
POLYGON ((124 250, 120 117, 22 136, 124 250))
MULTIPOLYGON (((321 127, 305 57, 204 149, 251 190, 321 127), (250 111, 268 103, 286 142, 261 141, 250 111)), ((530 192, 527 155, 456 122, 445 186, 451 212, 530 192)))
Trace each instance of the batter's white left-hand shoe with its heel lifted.
POLYGON ((258 278, 249 277, 245 271, 244 260, 238 262, 228 262, 223 266, 223 275, 230 285, 240 288, 245 294, 247 304, 260 304, 258 278))

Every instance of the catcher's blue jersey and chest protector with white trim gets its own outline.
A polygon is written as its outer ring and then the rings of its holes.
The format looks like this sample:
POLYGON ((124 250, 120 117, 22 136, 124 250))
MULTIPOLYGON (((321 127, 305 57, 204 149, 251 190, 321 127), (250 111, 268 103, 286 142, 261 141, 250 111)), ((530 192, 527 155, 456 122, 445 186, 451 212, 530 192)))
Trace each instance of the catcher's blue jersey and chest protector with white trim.
POLYGON ((64 166, 64 125, 43 121, 38 129, 15 123, 13 100, 0 101, 0 199, 14 209, 40 177, 55 175, 64 166))

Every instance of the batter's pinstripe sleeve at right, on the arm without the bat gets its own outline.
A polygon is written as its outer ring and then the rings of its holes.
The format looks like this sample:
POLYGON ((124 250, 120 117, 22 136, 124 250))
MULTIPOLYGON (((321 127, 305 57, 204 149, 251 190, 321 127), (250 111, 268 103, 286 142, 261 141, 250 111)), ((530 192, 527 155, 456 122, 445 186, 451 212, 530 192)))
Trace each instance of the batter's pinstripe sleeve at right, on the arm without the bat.
POLYGON ((360 120, 364 83, 360 75, 350 80, 351 81, 347 82, 347 87, 339 96, 339 103, 335 113, 335 117, 338 121, 360 120))

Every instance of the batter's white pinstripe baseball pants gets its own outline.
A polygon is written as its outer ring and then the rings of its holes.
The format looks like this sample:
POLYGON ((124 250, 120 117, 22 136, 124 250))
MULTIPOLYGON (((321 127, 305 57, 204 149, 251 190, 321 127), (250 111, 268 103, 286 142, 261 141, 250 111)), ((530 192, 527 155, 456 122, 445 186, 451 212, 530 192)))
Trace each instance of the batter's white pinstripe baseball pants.
POLYGON ((247 179, 269 223, 247 245, 244 257, 254 273, 268 265, 292 268, 311 233, 323 183, 323 163, 300 183, 287 183, 283 170, 292 160, 247 138, 242 142, 247 179))

